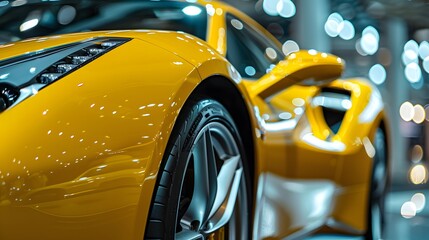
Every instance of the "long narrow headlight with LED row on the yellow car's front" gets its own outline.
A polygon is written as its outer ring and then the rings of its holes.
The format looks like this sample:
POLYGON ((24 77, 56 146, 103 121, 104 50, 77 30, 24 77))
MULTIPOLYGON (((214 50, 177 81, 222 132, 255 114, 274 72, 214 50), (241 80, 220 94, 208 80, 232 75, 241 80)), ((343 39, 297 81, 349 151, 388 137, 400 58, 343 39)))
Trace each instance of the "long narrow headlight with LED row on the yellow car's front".
POLYGON ((0 112, 129 41, 97 38, 0 62, 0 112))

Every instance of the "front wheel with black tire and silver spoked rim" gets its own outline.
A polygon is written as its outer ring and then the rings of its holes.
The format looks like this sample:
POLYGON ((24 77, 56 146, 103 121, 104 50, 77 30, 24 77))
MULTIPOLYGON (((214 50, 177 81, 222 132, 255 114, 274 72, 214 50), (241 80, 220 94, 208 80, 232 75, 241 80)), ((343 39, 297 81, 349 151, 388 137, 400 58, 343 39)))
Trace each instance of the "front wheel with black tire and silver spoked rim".
POLYGON ((158 172, 145 239, 206 239, 213 234, 250 239, 249 180, 242 142, 228 111, 210 99, 188 102, 158 172), (217 207, 219 201, 226 210, 217 207), (232 216, 221 221, 231 206, 232 216))

